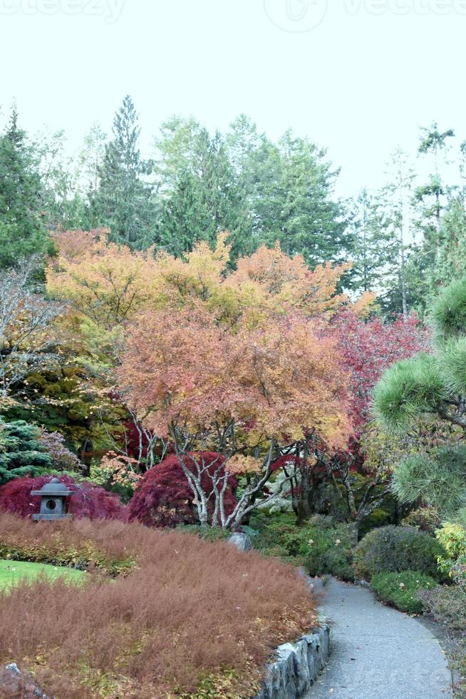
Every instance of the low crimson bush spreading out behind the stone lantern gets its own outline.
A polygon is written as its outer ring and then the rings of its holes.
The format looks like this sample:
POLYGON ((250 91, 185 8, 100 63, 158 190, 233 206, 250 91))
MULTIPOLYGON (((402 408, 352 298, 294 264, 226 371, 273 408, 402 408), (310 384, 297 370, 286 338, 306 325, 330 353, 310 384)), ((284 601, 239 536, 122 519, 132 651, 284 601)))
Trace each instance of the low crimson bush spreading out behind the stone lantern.
MULTIPOLYGON (((31 517, 38 514, 41 508, 41 498, 31 495, 31 491, 40 490, 51 481, 52 476, 37 478, 16 478, 0 488, 0 510, 19 514, 21 517, 31 517)), ((75 483, 71 476, 58 476, 73 495, 67 500, 68 512, 75 517, 88 519, 126 519, 126 510, 118 496, 88 481, 75 483)))

